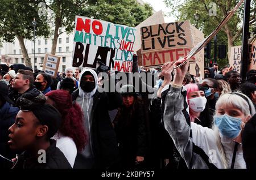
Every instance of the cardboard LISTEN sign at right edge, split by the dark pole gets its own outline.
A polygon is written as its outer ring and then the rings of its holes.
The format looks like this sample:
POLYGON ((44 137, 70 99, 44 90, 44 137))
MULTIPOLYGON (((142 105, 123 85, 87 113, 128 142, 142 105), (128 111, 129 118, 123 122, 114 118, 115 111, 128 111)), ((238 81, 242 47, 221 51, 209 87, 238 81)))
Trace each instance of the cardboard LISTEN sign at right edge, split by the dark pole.
MULTIPOLYGON (((251 69, 256 70, 256 43, 249 45, 249 66, 248 71, 251 69)), ((229 57, 229 65, 232 66, 232 70, 240 73, 241 70, 241 57, 242 46, 233 46, 229 57)))

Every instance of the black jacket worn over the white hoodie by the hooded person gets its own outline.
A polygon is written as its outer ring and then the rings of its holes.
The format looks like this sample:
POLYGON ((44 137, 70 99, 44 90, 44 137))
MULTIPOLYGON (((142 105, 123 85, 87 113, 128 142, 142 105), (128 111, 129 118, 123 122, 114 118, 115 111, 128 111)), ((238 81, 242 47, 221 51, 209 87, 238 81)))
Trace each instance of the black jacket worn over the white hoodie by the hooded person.
MULTIPOLYGON (((79 89, 72 93, 73 101, 79 96, 79 89)), ((96 168, 110 168, 118 164, 119 153, 117 138, 109 110, 117 109, 122 105, 120 93, 98 92, 93 95, 92 108, 92 149, 96 160, 96 168)))

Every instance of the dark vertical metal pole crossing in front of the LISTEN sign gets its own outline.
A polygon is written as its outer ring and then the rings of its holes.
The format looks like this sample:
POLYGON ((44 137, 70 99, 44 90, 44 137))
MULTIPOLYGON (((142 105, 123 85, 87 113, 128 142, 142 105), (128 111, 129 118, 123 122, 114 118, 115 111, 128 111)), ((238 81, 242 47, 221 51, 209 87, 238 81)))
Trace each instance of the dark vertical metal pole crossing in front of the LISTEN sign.
POLYGON ((242 82, 246 80, 246 72, 249 65, 249 20, 250 20, 250 0, 245 0, 245 8, 243 10, 243 34, 242 34, 242 57, 241 57, 241 74, 242 82))

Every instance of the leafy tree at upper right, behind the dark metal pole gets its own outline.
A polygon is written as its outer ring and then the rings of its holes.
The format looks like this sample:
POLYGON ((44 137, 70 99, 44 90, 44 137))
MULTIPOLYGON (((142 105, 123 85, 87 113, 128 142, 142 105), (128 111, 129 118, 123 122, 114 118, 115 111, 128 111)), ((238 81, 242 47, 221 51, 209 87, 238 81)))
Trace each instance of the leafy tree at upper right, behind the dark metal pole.
MULTIPOLYGON (((240 1, 240 0, 239 0, 240 1)), ((165 0, 168 7, 172 9, 172 14, 175 14, 179 20, 189 20, 192 24, 195 24, 194 14, 197 12, 200 15, 198 21, 199 29, 204 32, 205 36, 208 36, 221 20, 226 16, 228 11, 232 10, 234 6, 239 2, 238 0, 165 0), (216 8, 214 7, 216 5, 216 8), (216 12, 216 15, 214 15, 216 12), (213 16, 210 16, 213 15, 213 16)), ((251 1, 250 10, 250 24, 255 23, 256 2, 251 1)), ((242 34, 242 18, 243 18, 243 5, 238 9, 236 14, 224 25, 221 31, 218 33, 218 42, 228 45, 228 57, 230 55, 230 49, 232 46, 241 45, 242 34)), ((226 59, 225 63, 228 62, 226 59)))

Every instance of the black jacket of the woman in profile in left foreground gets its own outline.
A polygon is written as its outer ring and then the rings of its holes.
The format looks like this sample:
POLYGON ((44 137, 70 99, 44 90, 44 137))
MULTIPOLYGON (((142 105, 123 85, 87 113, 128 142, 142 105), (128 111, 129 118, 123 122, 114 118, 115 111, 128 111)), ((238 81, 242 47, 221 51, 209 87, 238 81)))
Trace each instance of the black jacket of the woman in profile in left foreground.
MULTIPOLYGON (((26 152, 21 155, 17 155, 13 169, 71 169, 67 158, 56 147, 56 141, 51 139, 51 145, 46 150, 46 163, 39 163, 38 158, 29 157, 26 152)), ((39 157, 39 159, 41 159, 39 157)))

